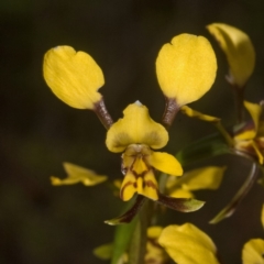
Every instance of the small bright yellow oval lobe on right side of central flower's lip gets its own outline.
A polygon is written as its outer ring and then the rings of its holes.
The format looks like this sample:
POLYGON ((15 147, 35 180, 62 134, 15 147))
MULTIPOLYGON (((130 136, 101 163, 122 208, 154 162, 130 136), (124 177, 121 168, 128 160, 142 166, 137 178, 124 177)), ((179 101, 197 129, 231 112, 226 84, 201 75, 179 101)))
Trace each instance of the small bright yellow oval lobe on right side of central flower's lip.
POLYGON ((183 175, 183 167, 180 163, 175 156, 168 153, 153 152, 152 155, 148 156, 147 162, 160 172, 174 176, 183 175))

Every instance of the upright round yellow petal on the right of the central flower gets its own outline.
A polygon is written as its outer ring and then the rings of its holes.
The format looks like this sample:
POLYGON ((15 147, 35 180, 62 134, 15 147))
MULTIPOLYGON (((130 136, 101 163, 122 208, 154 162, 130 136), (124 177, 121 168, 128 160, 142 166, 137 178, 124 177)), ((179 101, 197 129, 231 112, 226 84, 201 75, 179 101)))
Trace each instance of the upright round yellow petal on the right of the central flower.
POLYGON ((156 74, 164 95, 179 107, 196 101, 212 86, 217 59, 204 36, 180 34, 165 44, 156 59, 156 74))

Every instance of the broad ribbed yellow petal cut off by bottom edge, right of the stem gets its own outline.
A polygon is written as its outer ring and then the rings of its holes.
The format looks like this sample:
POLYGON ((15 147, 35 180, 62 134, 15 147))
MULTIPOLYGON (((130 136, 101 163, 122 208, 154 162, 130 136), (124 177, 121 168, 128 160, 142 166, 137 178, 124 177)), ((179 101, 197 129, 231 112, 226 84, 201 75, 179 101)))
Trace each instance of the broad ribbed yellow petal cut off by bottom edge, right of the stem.
POLYGON ((168 226, 158 239, 168 255, 180 264, 219 264, 211 239, 191 223, 168 226))

